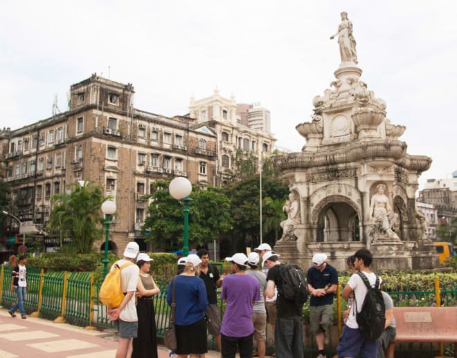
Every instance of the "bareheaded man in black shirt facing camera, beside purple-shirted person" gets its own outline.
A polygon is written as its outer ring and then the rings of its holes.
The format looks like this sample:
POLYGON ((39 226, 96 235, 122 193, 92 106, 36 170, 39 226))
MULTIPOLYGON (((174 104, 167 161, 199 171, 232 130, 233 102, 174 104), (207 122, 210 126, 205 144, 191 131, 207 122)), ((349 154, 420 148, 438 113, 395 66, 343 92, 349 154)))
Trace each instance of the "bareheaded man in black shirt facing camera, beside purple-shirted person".
POLYGON ((206 317, 208 317, 208 333, 213 335, 217 343, 219 352, 221 350, 221 314, 217 306, 217 288, 222 286, 224 274, 219 276, 219 271, 216 267, 209 263, 209 252, 207 249, 199 249, 197 252, 201 263, 200 279, 206 286, 206 295, 208 297, 208 308, 206 309, 206 317))

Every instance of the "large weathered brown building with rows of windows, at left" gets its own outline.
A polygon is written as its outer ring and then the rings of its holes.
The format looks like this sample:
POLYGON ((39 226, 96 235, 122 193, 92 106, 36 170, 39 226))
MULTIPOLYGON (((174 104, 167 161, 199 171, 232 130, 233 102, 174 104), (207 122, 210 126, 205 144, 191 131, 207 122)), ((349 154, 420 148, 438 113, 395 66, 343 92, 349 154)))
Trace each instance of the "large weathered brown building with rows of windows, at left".
MULTIPOLYGON (((150 194, 154 181, 174 176, 212 185, 218 137, 196 118, 135 109, 132 84, 94 74, 73 84, 70 93, 69 111, 0 131, 4 180, 12 189, 8 210, 22 223, 43 228, 52 196, 88 180, 116 200, 110 249, 122 253, 133 239, 147 249, 140 236, 149 205, 143 196, 150 194)), ((14 236, 15 226, 7 235, 14 236)))

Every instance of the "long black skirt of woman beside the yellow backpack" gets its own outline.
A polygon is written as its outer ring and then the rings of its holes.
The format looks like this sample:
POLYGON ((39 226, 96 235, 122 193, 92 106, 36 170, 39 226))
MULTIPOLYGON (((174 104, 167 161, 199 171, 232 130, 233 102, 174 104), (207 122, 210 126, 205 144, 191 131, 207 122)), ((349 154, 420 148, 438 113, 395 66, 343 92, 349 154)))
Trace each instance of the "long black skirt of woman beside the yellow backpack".
POLYGON ((158 358, 156 337, 156 314, 152 299, 138 299, 138 335, 133 340, 132 358, 158 358))

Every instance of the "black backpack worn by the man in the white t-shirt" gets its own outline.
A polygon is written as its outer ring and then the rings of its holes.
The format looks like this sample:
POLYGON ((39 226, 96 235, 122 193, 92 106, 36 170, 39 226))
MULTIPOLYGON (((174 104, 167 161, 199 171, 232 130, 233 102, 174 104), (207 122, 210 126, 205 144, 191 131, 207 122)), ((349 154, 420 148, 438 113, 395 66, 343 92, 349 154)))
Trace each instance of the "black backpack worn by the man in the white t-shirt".
POLYGON ((357 272, 357 274, 364 281, 367 292, 360 312, 357 312, 357 301, 355 301, 355 312, 357 314, 355 318, 365 339, 374 341, 381 337, 386 324, 386 306, 380 290, 381 283, 379 277, 376 276, 375 287, 372 287, 365 274, 361 272, 357 272))

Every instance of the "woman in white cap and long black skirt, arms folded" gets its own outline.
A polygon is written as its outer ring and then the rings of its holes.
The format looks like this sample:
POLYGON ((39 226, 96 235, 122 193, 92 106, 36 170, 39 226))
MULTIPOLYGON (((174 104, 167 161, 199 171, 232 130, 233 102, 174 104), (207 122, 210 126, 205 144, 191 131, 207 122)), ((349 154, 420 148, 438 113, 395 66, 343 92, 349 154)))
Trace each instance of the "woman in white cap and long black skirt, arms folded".
POLYGON ((132 358, 158 358, 156 320, 152 296, 159 294, 154 279, 150 274, 152 258, 139 254, 136 265, 140 267, 138 285, 136 285, 136 313, 138 314, 138 335, 133 340, 132 358))

